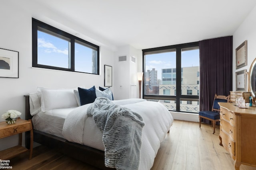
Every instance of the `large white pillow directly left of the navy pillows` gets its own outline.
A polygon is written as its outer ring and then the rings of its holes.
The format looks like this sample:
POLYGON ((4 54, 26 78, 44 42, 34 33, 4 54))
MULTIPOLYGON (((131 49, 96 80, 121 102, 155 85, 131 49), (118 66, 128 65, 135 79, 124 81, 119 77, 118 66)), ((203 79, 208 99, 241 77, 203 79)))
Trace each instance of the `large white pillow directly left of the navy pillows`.
POLYGON ((38 88, 41 92, 41 110, 60 109, 78 106, 74 89, 38 88))

